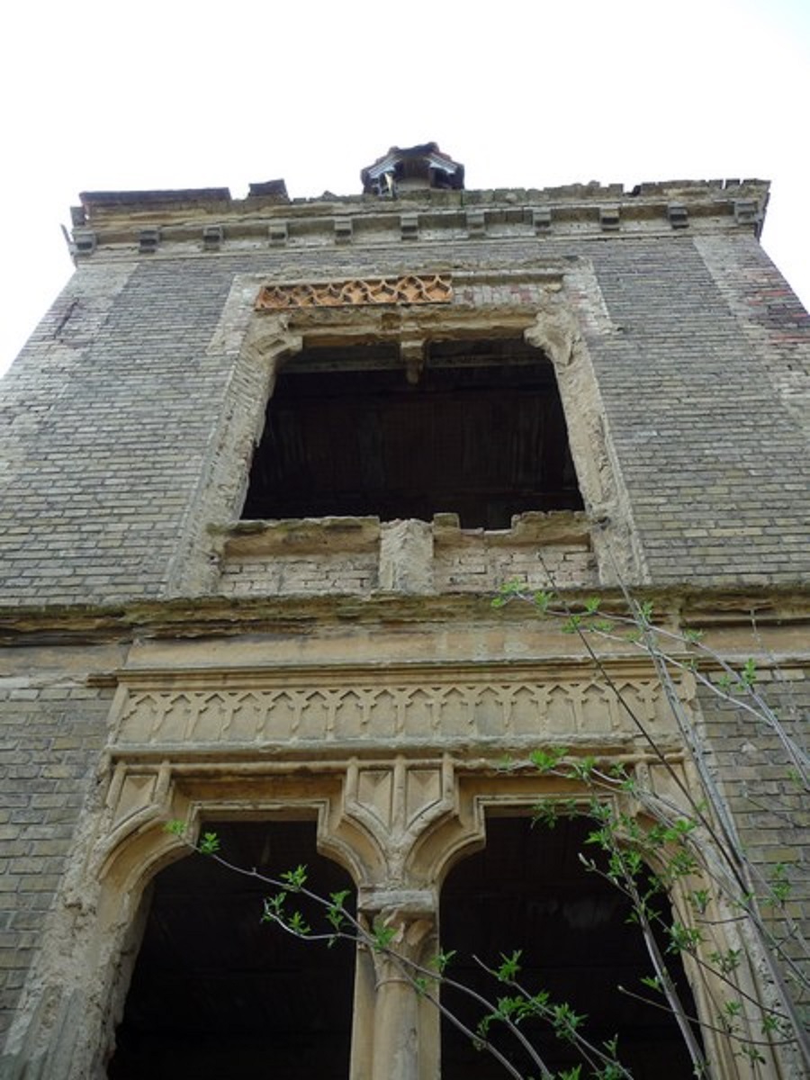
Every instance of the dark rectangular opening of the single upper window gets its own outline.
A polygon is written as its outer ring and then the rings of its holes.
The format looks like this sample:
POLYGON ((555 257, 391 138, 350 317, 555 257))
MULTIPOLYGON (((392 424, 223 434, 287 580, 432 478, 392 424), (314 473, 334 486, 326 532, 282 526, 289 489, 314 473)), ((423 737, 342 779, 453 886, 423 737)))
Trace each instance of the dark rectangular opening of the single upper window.
POLYGON ((309 349, 267 408, 243 517, 457 513, 464 528, 578 510, 552 365, 521 340, 434 341, 410 382, 395 345, 309 349))

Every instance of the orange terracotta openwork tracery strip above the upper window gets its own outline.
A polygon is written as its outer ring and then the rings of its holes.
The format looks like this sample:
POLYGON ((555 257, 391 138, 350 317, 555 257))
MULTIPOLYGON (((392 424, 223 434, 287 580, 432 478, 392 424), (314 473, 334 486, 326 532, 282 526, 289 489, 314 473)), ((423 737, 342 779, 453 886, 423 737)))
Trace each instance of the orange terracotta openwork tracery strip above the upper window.
POLYGON ((349 281, 264 285, 256 297, 256 310, 449 303, 451 299, 449 274, 406 274, 402 278, 352 278, 349 281))

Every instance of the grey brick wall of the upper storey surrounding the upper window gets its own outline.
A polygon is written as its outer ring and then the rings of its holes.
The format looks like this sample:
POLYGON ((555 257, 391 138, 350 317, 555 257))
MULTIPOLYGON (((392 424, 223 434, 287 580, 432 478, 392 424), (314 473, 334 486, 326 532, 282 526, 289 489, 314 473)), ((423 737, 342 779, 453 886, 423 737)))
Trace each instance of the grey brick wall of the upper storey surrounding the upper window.
MULTIPOLYGON (((769 375, 762 313, 745 307, 743 285, 724 269, 738 243, 750 258, 742 234, 704 234, 700 251, 679 234, 91 260, 3 383, 0 599, 119 600, 193 580, 185 563, 202 565, 205 527, 238 515, 247 470, 245 460, 227 462, 243 473, 230 504, 205 509, 213 433, 240 392, 237 354, 213 345, 234 274, 396 273, 435 266, 440 255, 459 271, 511 273, 592 260, 609 320, 599 329, 583 311, 582 324, 652 580, 796 580, 808 570, 810 457, 786 403, 789 357, 783 375, 769 375)), ((785 356, 807 334, 793 322, 785 356)), ((248 390, 242 408, 258 423, 264 402, 248 390)))

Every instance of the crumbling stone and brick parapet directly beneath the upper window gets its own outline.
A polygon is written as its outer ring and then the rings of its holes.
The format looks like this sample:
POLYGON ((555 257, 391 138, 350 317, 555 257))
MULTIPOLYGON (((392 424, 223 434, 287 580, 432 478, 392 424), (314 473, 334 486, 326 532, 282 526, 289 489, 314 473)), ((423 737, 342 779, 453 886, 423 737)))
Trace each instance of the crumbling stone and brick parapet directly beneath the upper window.
POLYGON ((591 588, 596 564, 581 511, 529 512, 509 529, 462 529, 457 514, 432 522, 322 517, 240 522, 222 537, 226 596, 492 594, 591 588))

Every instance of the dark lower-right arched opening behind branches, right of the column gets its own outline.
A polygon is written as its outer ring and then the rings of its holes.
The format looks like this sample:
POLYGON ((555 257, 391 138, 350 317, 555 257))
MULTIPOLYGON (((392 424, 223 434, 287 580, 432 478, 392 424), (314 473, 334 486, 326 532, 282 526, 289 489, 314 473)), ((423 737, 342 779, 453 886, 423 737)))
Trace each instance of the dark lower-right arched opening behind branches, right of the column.
MULTIPOLYGON (((638 928, 627 921, 626 899, 580 863, 580 851, 594 856, 594 848, 585 846, 593 828, 588 819, 564 819, 553 829, 532 827, 526 818, 488 819, 486 848, 455 866, 442 890, 442 948, 458 950, 448 975, 495 1001, 511 991, 483 973, 472 957, 495 968, 501 954, 523 949, 522 985, 531 993, 545 989, 554 1002, 585 1013, 583 1032, 595 1044, 618 1034, 619 1058, 635 1080, 683 1080, 692 1069, 672 1015, 618 989, 621 985, 653 997, 640 983, 653 972, 638 928)), ((664 897, 660 906, 667 917, 664 897)), ((680 960, 667 958, 675 960, 671 971, 694 1016, 680 960)), ((481 1009, 451 989, 443 1000, 475 1027, 481 1009)), ((521 1026, 555 1074, 582 1061, 548 1025, 531 1021, 521 1026)), ((495 1025, 490 1035, 521 1075, 535 1075, 502 1027, 495 1025)), ((498 1068, 443 1022, 442 1080, 484 1080, 498 1068)), ((586 1071, 583 1064, 583 1076, 586 1071)))

